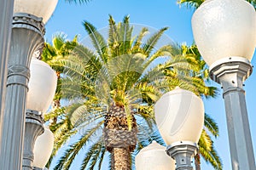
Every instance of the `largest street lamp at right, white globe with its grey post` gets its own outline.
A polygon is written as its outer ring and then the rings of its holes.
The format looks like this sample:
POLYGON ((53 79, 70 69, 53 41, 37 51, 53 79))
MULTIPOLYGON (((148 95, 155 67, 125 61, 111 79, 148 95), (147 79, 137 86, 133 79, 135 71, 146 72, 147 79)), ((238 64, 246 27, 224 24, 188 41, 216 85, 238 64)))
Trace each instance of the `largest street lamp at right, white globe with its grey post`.
POLYGON ((232 169, 255 170, 243 82, 253 71, 256 16, 244 0, 207 0, 192 18, 195 43, 212 80, 221 84, 232 169))

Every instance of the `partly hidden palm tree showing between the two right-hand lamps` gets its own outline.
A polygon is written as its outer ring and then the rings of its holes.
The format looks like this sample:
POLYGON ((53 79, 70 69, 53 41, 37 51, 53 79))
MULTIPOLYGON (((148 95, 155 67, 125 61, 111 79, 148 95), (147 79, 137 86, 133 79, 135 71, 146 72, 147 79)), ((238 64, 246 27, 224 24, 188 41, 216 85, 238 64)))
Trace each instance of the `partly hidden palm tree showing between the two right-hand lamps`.
MULTIPOLYGON (((182 55, 184 58, 188 60, 188 62, 193 66, 192 70, 185 70, 181 68, 177 68, 177 71, 182 71, 183 75, 186 74, 188 77, 193 78, 193 86, 198 89, 199 93, 195 93, 197 95, 203 94, 202 97, 215 97, 216 96, 216 88, 208 87, 208 88, 199 88, 201 84, 204 84, 204 81, 210 82, 209 79, 209 70, 206 65, 206 62, 201 58, 201 54, 199 53, 197 47, 195 45, 186 46, 182 45, 179 50, 175 50, 177 53, 174 56, 180 58, 182 55), (203 91, 201 91, 203 90, 203 91)), ((172 69, 172 71, 175 71, 172 69)), ((170 71, 166 73, 169 74, 170 71)), ((166 76, 168 76, 168 74, 166 76)), ((171 73, 172 75, 172 73, 171 73)), ((205 123, 204 129, 201 133, 201 139, 199 141, 199 153, 195 156, 195 170, 201 169, 201 157, 210 162, 212 167, 215 169, 222 169, 222 161, 218 156, 217 151, 214 149, 212 137, 218 137, 218 125, 211 116, 205 114, 205 123)))

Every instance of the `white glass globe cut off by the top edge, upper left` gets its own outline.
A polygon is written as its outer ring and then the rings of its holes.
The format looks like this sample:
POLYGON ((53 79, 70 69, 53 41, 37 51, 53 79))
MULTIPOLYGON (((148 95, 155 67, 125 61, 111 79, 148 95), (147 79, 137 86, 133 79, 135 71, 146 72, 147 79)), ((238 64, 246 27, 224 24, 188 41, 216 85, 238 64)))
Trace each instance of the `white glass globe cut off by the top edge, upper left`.
POLYGON ((15 0, 14 14, 26 13, 42 17, 44 24, 53 14, 58 0, 15 0))

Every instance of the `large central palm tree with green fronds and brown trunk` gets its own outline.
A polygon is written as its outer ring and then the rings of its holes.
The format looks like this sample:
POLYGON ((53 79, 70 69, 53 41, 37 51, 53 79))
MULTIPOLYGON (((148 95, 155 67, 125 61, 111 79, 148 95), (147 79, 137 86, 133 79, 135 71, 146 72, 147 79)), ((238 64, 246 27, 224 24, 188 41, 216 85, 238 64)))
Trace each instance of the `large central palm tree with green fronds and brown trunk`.
POLYGON ((96 52, 78 44, 68 59, 55 61, 55 65, 65 67, 61 95, 71 103, 51 113, 60 118, 54 126, 54 154, 67 139, 81 134, 77 142, 69 145, 55 169, 68 169, 87 144, 90 147, 81 169, 101 168, 107 151, 111 154, 112 169, 131 169, 131 151, 141 146, 142 136, 157 136, 153 107, 161 94, 176 86, 198 95, 215 93, 215 88, 199 81, 201 76, 191 77, 198 62, 189 60, 189 55, 172 55, 177 53, 172 44, 154 48, 167 28, 150 36, 148 29, 143 28, 135 37, 128 16, 118 25, 112 16, 108 21, 108 42, 84 21, 96 52), (162 57, 168 59, 160 62, 162 57))

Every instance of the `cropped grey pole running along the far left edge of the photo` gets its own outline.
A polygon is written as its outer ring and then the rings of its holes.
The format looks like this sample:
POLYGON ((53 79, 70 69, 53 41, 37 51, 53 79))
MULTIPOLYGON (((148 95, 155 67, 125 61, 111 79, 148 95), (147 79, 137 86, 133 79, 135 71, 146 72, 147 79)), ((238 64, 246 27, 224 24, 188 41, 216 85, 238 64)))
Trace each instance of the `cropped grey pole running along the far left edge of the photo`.
MULTIPOLYGON (((6 93, 7 59, 11 36, 14 0, 0 0, 0 143, 2 137, 3 108, 6 93)), ((1 150, 0 150, 1 152, 1 150)))

